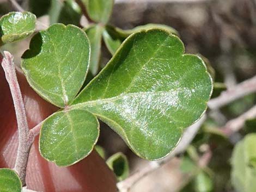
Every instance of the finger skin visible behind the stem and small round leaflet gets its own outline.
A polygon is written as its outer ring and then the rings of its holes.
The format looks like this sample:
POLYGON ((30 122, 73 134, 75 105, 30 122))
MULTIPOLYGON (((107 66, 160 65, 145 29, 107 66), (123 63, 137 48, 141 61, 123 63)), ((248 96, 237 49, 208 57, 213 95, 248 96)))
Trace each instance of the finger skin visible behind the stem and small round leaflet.
MULTIPOLYGON (((34 127, 58 108, 43 100, 17 72, 27 112, 29 128, 34 127)), ((9 85, 0 67, 0 168, 14 168, 17 152, 17 123, 9 85)), ((114 192, 115 176, 104 160, 93 151, 87 158, 69 167, 58 167, 39 154, 38 137, 29 154, 28 189, 44 192, 114 192)))

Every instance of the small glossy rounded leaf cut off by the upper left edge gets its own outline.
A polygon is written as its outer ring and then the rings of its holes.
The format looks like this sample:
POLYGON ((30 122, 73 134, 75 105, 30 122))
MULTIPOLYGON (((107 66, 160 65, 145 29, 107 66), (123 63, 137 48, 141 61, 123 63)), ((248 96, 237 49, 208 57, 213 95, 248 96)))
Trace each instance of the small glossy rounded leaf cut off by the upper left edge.
POLYGON ((30 12, 10 12, 0 19, 1 45, 25 39, 35 31, 36 17, 30 12))

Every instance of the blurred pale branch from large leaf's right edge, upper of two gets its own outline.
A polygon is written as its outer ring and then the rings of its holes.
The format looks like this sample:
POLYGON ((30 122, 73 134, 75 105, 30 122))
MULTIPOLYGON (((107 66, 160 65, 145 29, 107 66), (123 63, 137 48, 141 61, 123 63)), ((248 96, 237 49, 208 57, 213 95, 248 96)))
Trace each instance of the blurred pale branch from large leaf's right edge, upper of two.
POLYGON ((208 107, 216 110, 238 98, 251 94, 252 92, 256 92, 256 76, 233 86, 227 91, 223 91, 220 96, 213 98, 208 102, 208 107))

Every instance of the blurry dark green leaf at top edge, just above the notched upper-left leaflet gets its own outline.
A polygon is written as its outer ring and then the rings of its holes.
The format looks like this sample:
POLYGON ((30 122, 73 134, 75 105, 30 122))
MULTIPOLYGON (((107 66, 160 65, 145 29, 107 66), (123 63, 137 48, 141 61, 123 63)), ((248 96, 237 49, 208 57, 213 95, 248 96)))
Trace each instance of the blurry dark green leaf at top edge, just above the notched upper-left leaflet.
POLYGON ((78 26, 82 16, 79 5, 74 0, 56 1, 52 0, 49 11, 50 24, 63 23, 78 26))

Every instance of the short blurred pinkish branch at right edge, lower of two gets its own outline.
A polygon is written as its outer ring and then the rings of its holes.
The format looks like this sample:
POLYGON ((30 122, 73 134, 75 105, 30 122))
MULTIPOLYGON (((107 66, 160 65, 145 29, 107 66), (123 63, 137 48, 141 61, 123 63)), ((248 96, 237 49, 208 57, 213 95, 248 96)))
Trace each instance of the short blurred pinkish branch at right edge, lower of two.
POLYGON ((245 126, 245 122, 247 119, 253 119, 256 117, 256 106, 249 109, 247 112, 243 113, 239 117, 228 121, 223 127, 224 134, 230 136, 232 133, 239 131, 243 126, 245 126))

